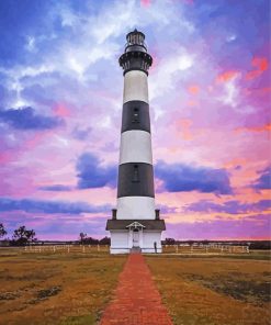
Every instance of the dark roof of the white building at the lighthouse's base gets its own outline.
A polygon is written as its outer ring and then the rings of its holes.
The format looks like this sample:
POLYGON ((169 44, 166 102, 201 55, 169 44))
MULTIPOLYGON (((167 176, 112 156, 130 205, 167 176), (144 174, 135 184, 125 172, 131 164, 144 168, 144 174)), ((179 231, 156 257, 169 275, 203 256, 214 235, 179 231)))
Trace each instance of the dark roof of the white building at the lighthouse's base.
POLYGON ((134 223, 140 224, 146 231, 166 231, 163 220, 108 220, 106 231, 127 231, 134 223))

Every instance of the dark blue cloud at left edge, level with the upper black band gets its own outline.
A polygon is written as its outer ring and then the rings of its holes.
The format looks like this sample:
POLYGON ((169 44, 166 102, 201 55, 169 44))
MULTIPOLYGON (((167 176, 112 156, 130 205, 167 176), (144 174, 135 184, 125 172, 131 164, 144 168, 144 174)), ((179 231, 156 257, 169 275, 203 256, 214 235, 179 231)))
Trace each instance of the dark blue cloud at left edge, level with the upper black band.
POLYGON ((0 111, 0 121, 18 130, 48 130, 63 124, 61 119, 36 114, 30 107, 0 111))

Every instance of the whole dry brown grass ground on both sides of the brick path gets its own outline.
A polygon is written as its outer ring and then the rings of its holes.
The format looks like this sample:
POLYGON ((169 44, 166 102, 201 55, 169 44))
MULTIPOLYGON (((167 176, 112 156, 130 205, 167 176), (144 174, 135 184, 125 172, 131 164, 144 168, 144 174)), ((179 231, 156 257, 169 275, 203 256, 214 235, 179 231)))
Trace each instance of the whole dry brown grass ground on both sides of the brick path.
MULTIPOLYGON (((268 253, 269 254, 269 253, 268 253)), ((145 256, 173 324, 270 324, 269 255, 145 256)), ((0 249, 0 324, 98 324, 126 256, 0 249)))

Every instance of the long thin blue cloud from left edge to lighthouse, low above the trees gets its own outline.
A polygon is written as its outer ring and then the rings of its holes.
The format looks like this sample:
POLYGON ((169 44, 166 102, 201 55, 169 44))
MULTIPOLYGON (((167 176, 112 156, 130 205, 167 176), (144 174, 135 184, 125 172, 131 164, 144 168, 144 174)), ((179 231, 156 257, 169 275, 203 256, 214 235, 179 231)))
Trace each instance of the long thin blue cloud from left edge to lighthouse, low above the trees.
POLYGON ((42 201, 32 199, 9 199, 0 198, 0 211, 24 211, 30 213, 47 213, 47 214, 81 214, 81 213, 99 213, 109 211, 108 205, 90 205, 86 202, 63 202, 63 201, 42 201))

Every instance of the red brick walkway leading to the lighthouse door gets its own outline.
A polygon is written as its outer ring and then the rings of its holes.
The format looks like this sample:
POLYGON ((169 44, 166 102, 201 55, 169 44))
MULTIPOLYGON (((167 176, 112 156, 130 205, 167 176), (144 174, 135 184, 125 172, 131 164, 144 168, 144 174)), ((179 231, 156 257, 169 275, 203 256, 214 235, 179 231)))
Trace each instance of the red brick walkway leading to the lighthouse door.
POLYGON ((140 254, 132 254, 100 325, 172 325, 140 254))

